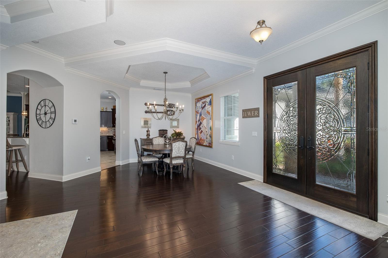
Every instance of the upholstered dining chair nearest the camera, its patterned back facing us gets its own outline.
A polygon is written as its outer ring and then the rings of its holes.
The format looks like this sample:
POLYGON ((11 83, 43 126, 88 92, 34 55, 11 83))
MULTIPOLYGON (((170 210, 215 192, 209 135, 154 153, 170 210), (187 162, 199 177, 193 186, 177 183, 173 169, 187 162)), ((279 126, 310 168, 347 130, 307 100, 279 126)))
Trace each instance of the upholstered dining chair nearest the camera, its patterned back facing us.
POLYGON ((183 176, 185 176, 185 169, 186 169, 186 148, 187 148, 187 141, 184 140, 177 140, 173 141, 171 143, 171 152, 169 158, 163 158, 163 165, 165 167, 165 173, 163 175, 166 175, 166 165, 170 165, 170 179, 172 179, 172 167, 173 166, 180 166, 183 165, 183 176))

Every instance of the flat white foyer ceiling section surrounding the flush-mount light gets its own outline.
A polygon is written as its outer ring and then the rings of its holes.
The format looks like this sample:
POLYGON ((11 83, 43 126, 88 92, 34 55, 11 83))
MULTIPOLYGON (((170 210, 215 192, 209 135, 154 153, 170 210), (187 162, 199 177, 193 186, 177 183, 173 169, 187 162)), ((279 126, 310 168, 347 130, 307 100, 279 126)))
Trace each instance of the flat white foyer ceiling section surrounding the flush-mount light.
POLYGON ((117 46, 114 40, 128 45, 171 38, 258 58, 377 2, 114 1, 114 14, 107 22, 56 33, 40 40, 37 47, 68 57, 112 48, 117 46), (249 37, 260 19, 273 29, 263 45, 249 37))

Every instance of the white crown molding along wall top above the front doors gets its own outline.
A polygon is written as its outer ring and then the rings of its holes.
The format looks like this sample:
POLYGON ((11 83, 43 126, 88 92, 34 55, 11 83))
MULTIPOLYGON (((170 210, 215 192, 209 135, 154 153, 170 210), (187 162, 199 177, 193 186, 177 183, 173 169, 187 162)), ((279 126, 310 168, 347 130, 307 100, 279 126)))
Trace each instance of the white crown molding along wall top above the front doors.
POLYGON ((338 22, 334 22, 333 24, 320 29, 319 31, 316 31, 308 36, 305 36, 304 38, 301 38, 299 40, 294 41, 293 43, 290 43, 286 46, 283 46, 281 48, 278 48, 277 50, 268 53, 266 55, 263 55, 262 57, 256 58, 256 64, 259 64, 261 62, 264 62, 265 60, 268 60, 272 57, 275 57, 277 55, 280 55, 282 53, 285 53, 289 50, 292 50, 294 48, 297 48, 298 46, 305 45, 309 43, 310 41, 316 40, 318 38, 321 38, 323 36, 326 36, 327 34, 333 33, 334 31, 338 31, 339 29, 342 29, 346 26, 349 26, 355 22, 361 21, 371 15, 377 14, 381 11, 384 11, 388 9, 388 1, 381 1, 378 2, 364 10, 361 10, 360 12, 357 12, 355 14, 352 14, 338 22))

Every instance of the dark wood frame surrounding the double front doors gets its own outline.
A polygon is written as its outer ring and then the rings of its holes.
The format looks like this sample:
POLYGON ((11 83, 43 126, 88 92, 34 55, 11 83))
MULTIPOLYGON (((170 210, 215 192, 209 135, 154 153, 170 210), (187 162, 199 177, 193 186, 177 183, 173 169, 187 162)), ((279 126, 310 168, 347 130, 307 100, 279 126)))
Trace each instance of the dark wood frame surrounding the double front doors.
MULTIPOLYGON (((298 72, 316 65, 325 64, 334 60, 338 60, 343 57, 349 57, 361 52, 368 52, 369 55, 369 127, 378 128, 378 110, 377 110, 377 41, 352 48, 350 50, 345 50, 328 57, 324 57, 307 64, 299 65, 291 69, 287 69, 275 74, 265 76, 263 78, 263 96, 264 96, 264 162, 263 162, 263 182, 267 183, 267 81, 275 77, 284 76, 293 72, 298 72)), ((271 100, 269 100, 271 101, 271 100)), ((365 128, 366 130, 366 128, 365 128)), ((369 133, 369 218, 371 220, 377 221, 377 150, 378 150, 378 132, 375 130, 370 131, 369 133)), ((311 198, 311 197, 308 197, 311 198)), ((313 199, 313 198, 312 198, 313 199)))

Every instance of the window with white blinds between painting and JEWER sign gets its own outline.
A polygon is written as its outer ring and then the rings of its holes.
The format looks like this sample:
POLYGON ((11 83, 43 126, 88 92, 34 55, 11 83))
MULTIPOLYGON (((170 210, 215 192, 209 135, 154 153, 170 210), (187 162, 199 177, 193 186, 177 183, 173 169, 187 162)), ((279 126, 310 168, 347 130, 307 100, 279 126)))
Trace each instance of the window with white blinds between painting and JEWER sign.
POLYGON ((239 141, 239 93, 221 96, 221 141, 239 141))

